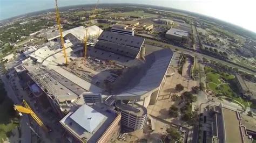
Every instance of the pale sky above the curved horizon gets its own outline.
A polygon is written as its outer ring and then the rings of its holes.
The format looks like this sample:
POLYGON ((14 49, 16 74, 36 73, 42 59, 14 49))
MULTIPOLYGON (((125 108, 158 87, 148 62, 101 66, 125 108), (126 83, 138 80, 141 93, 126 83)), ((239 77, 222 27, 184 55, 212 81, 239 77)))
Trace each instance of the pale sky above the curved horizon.
MULTIPOLYGON (((97 0, 58 0, 59 6, 92 4, 97 0)), ((256 32, 256 0, 99 0, 99 3, 138 3, 165 6, 218 18, 256 32)), ((0 20, 51 9, 55 0, 0 0, 0 20)))

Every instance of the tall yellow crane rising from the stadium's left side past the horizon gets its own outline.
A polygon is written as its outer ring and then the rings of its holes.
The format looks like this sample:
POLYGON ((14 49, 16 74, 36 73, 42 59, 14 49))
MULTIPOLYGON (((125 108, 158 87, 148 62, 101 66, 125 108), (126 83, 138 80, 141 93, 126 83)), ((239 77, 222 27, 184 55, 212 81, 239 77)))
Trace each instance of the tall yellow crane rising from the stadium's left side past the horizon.
POLYGON ((62 42, 62 49, 63 49, 63 53, 64 53, 64 58, 65 58, 65 64, 68 64, 68 58, 66 56, 66 48, 64 46, 64 39, 63 39, 63 34, 62 34, 62 26, 60 24, 60 16, 59 16, 59 8, 58 8, 58 2, 57 0, 55 0, 56 3, 56 18, 57 18, 57 24, 59 27, 59 34, 60 34, 60 41, 62 42))

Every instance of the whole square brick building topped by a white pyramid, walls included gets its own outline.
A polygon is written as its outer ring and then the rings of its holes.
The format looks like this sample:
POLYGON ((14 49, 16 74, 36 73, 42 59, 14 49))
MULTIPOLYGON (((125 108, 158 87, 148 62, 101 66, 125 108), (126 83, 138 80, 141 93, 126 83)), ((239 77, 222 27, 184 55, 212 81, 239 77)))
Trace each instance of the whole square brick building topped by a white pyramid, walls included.
POLYGON ((72 142, 111 142, 120 132, 119 112, 104 103, 81 105, 59 123, 75 138, 72 142))

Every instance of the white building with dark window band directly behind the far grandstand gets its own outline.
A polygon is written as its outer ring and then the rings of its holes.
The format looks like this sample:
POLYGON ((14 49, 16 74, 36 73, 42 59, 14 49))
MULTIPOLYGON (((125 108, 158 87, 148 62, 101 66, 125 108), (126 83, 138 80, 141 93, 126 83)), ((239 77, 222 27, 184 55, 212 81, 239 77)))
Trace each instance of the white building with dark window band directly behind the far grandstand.
POLYGON ((134 35, 134 27, 125 24, 115 24, 111 28, 111 32, 123 35, 134 35))

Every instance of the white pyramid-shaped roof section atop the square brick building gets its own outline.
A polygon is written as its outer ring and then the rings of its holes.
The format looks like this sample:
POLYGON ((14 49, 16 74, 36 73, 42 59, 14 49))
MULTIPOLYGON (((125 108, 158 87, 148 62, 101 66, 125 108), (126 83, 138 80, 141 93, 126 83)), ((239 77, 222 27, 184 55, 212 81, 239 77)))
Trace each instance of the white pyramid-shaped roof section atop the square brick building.
POLYGON ((90 106, 84 104, 74 112, 70 118, 83 127, 86 131, 92 133, 97 126, 107 118, 102 113, 96 111, 90 106))

